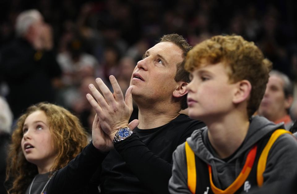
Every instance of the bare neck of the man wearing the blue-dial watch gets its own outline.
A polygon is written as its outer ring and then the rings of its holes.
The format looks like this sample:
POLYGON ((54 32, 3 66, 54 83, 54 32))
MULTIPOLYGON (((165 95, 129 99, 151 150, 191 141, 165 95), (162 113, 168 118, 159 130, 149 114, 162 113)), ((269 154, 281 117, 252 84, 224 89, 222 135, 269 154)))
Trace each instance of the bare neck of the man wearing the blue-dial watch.
POLYGON ((179 116, 179 105, 163 104, 150 107, 138 106, 139 129, 153 129, 169 123, 179 116))

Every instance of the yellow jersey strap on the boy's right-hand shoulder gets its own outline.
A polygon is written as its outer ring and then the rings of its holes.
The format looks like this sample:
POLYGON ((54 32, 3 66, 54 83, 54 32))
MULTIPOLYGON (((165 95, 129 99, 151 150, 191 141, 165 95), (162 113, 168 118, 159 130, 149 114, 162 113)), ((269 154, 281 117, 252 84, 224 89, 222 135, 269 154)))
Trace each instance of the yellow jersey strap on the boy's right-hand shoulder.
POLYGON ((278 137, 284 133, 292 134, 291 132, 286 131, 285 129, 275 130, 272 133, 271 137, 269 138, 269 141, 265 145, 265 148, 263 149, 260 155, 258 166, 257 166, 257 183, 259 187, 262 187, 263 185, 263 172, 265 171, 265 168, 266 168, 266 162, 267 162, 269 150, 272 147, 273 143, 278 139, 278 137))

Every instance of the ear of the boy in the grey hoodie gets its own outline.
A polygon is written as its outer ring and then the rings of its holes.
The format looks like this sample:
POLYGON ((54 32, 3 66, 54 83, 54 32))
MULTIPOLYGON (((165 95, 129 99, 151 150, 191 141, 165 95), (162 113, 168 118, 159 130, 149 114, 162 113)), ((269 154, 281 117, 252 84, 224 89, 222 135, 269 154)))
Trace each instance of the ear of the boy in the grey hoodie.
POLYGON ((237 88, 233 96, 233 103, 238 104, 248 99, 252 90, 252 85, 248 80, 241 80, 237 83, 237 88))

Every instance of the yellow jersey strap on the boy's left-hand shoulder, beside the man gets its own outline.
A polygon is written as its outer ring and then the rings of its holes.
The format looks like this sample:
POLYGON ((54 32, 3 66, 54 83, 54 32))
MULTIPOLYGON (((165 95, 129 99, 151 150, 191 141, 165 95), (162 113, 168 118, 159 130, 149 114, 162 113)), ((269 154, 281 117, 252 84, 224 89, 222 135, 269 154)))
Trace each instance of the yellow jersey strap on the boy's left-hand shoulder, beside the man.
POLYGON ((187 174, 188 174, 188 188, 192 193, 196 192, 196 162, 195 154, 190 148, 188 142, 185 143, 186 157, 187 157, 187 174))

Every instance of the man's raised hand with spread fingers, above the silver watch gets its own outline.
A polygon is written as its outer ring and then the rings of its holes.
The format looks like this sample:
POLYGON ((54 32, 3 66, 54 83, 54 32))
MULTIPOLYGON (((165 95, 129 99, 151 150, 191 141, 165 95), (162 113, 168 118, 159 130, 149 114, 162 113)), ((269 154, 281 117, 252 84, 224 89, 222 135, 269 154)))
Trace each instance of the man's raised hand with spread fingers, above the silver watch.
MULTIPOLYGON (((97 78, 96 82, 104 97, 93 84, 90 84, 90 91, 96 98, 97 102, 90 94, 87 94, 87 99, 97 113, 97 116, 100 120, 101 129, 106 133, 106 135, 110 137, 110 140, 112 141, 119 128, 128 127, 129 118, 133 111, 131 93, 132 87, 130 86, 127 89, 124 99, 121 88, 113 75, 110 76, 110 83, 114 89, 113 94, 100 78, 97 78)), ((136 121, 136 123, 137 122, 138 121, 136 121)), ((135 127, 135 125, 136 124, 133 124, 131 127, 135 127)))

